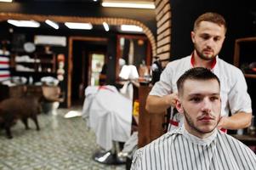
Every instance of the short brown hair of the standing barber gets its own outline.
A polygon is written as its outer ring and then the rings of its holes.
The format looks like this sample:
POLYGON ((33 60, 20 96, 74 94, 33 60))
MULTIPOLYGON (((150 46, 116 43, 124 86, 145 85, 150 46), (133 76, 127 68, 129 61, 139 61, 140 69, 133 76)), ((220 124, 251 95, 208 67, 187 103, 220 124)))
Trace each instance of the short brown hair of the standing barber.
POLYGON ((224 17, 222 15, 217 14, 217 13, 208 12, 208 13, 201 14, 196 19, 196 21, 194 23, 194 31, 196 31, 196 28, 200 25, 200 23, 202 21, 213 22, 214 24, 217 24, 219 26, 224 26, 225 27, 225 31, 227 29, 225 19, 224 19, 224 17))

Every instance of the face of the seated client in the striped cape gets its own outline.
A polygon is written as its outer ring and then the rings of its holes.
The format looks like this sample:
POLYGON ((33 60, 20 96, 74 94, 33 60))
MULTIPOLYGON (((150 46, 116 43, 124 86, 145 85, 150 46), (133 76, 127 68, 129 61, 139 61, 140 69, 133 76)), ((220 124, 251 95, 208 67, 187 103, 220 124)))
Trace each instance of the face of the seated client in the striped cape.
POLYGON ((219 122, 221 102, 217 80, 186 80, 177 109, 185 116, 185 128, 199 138, 208 137, 219 122))

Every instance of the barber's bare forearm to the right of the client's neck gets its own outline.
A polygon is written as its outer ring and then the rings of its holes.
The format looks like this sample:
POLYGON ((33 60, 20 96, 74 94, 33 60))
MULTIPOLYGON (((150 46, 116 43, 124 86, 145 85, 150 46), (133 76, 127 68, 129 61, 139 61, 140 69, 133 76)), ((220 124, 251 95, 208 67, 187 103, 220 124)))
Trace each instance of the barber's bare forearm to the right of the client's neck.
POLYGON ((225 129, 240 129, 251 125, 252 113, 236 112, 232 116, 221 117, 218 127, 225 129))

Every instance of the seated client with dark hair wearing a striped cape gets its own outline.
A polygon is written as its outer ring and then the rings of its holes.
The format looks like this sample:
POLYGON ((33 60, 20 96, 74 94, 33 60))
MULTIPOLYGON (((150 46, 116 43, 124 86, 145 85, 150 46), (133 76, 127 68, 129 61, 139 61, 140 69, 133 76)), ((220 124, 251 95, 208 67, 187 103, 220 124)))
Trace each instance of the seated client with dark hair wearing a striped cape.
POLYGON ((184 125, 137 150, 131 169, 255 169, 253 151, 217 128, 218 77, 197 67, 179 77, 177 86, 176 108, 185 116, 184 125))

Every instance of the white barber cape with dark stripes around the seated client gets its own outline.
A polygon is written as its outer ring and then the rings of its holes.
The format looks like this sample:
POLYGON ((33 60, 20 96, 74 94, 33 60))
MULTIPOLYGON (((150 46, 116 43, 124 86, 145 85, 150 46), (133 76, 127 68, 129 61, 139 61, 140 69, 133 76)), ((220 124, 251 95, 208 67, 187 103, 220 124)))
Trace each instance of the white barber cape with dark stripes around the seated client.
POLYGON ((199 139, 183 126, 137 150, 131 169, 255 170, 256 155, 217 129, 207 139, 199 139))

